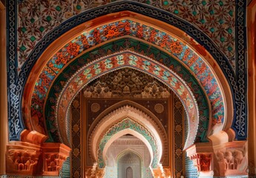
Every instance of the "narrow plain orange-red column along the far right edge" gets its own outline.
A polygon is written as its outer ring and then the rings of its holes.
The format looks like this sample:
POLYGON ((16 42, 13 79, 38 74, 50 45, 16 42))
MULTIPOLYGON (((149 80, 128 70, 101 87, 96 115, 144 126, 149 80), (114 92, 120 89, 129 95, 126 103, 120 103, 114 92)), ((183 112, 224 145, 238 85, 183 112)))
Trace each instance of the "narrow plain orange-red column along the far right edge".
POLYGON ((248 171, 256 175, 256 0, 250 2, 247 11, 248 29, 248 171))

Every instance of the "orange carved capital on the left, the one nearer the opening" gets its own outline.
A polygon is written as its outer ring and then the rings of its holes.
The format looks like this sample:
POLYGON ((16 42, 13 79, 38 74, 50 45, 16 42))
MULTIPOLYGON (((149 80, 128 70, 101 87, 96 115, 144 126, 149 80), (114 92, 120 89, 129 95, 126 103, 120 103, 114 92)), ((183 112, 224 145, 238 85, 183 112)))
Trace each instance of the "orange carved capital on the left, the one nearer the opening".
POLYGON ((44 175, 59 176, 63 162, 68 158, 70 148, 60 143, 43 145, 44 175))

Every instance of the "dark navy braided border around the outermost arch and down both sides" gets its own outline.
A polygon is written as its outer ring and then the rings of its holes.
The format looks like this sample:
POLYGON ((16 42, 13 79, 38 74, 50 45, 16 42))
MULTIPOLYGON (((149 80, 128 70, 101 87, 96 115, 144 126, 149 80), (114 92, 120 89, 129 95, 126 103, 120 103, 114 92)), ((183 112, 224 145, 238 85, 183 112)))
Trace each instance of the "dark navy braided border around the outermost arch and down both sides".
MULTIPOLYGON (((237 5, 237 7, 243 9, 243 4, 237 5)), ((16 9, 15 3, 9 4, 13 9, 16 9)), ((67 32, 73 27, 76 27, 77 25, 81 24, 82 22, 88 21, 88 19, 95 18, 96 16, 101 16, 102 14, 105 13, 115 13, 119 12, 120 10, 132 10, 137 13, 144 13, 147 16, 151 16, 157 19, 160 19, 164 22, 168 22, 175 27, 180 27, 183 31, 186 31, 188 35, 191 35, 197 42, 200 42, 203 46, 206 47, 207 50, 211 53, 212 56, 214 56, 215 59, 217 59, 217 62, 221 64, 220 66, 223 69, 223 72, 225 73, 226 77, 228 77, 228 81, 230 85, 232 86, 232 90, 234 91, 234 101, 235 101, 235 112, 237 113, 237 119, 234 120, 233 122, 233 128, 237 133, 237 138, 238 139, 244 139, 246 138, 246 97, 245 97, 245 92, 246 92, 246 74, 243 73, 244 67, 245 67, 245 62, 244 62, 244 51, 238 50, 239 52, 239 57, 237 57, 237 60, 239 61, 239 73, 240 75, 237 75, 237 79, 234 76, 234 73, 232 72, 232 68, 229 66, 229 62, 226 59, 226 57, 220 52, 220 50, 217 50, 217 47, 215 47, 214 43, 211 42, 209 37, 205 36, 203 33, 201 33, 199 30, 197 30, 196 27, 192 26, 191 24, 188 24, 187 22, 180 20, 176 16, 173 16, 171 13, 162 11, 162 10, 157 10, 154 7, 148 7, 143 4, 137 4, 137 2, 133 1, 119 1, 113 4, 109 4, 107 7, 99 7, 96 10, 88 10, 85 13, 81 13, 79 16, 76 18, 70 19, 67 22, 63 23, 59 27, 56 27, 51 33, 48 33, 44 39, 42 39, 41 42, 35 47, 35 50, 33 50, 33 53, 29 56, 29 59, 27 60, 26 64, 23 65, 21 72, 19 73, 19 76, 16 76, 16 71, 15 71, 15 56, 16 53, 8 54, 10 56, 10 85, 12 88, 10 89, 10 139, 11 140, 16 140, 19 139, 20 133, 24 130, 24 124, 22 122, 22 109, 21 109, 21 103, 22 103, 22 93, 23 93, 23 87, 24 84, 26 83, 28 77, 28 74, 30 73, 31 68, 33 67, 33 64, 36 62, 37 59, 39 59, 39 56, 42 54, 42 51, 45 50, 45 46, 48 46, 53 40, 58 38, 60 35, 63 33, 67 32), (153 13, 154 12, 154 13, 153 13), (152 15, 152 13, 154 15, 152 15), (87 14, 87 16, 85 16, 87 14), (239 88, 237 87, 237 82, 240 83, 239 88)), ((15 16, 13 15, 13 11, 10 10, 9 12, 10 16, 12 17, 11 19, 15 19, 15 16)), ((243 18, 245 13, 237 13, 237 16, 240 16, 243 18)), ((13 36, 16 36, 15 34, 15 23, 13 23, 8 30, 8 36, 10 39, 13 38, 13 36)), ((243 27, 243 22, 238 23, 240 27, 243 27)), ((243 28, 240 28, 243 29, 243 28)), ((245 41, 243 40, 243 30, 237 30, 239 33, 242 35, 239 37, 240 41, 237 42, 241 46, 244 46, 245 41)), ((13 44, 10 44, 10 49, 12 50, 16 42, 13 42, 13 44)), ((8 57, 9 58, 9 57, 8 57)), ((232 104, 232 103, 231 103, 232 104)), ((25 114, 24 114, 25 115, 25 114)), ((25 118, 24 116, 23 118, 25 118)), ((232 121, 229 121, 226 124, 226 128, 229 128, 229 126, 232 124, 232 121)))

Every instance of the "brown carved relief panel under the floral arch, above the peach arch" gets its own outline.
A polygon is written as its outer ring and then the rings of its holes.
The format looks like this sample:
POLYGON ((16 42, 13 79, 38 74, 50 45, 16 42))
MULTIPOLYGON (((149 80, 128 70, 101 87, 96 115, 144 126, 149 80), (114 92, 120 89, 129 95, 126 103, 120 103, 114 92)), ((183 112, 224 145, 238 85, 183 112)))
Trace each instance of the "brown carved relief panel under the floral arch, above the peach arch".
MULTIPOLYGON (((88 85, 84 90, 86 98, 168 98, 170 89, 146 73, 125 68, 107 73, 88 85)), ((95 105, 96 106, 96 105, 95 105)), ((97 107, 99 108, 99 107, 97 107)), ((155 107, 162 113, 163 106, 155 107)), ((96 107, 91 108, 92 111, 96 107)))

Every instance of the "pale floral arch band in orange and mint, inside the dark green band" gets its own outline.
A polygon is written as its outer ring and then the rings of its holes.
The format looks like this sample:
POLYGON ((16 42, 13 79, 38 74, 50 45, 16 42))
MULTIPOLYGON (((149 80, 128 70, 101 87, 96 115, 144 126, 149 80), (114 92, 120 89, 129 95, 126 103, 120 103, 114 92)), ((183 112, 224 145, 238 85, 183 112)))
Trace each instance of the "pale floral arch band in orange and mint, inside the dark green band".
MULTIPOLYGON (((164 67, 160 63, 145 58, 145 56, 139 56, 128 52, 106 56, 105 58, 96 60, 90 65, 82 67, 69 82, 67 82, 63 89, 61 89, 61 92, 57 94, 58 99, 54 113, 57 121, 56 124, 59 126, 58 128, 65 126, 67 108, 79 90, 82 90, 88 82, 96 79, 98 76, 122 67, 132 67, 148 73, 165 83, 165 85, 174 90, 174 93, 177 93, 177 96, 179 96, 180 100, 183 102, 189 118, 189 136, 186 140, 185 148, 192 145, 197 133, 199 113, 194 94, 191 93, 186 82, 172 70, 164 67)), ((59 136, 61 136, 60 139, 62 139, 62 142, 68 144, 68 139, 64 131, 59 130, 59 136)))

